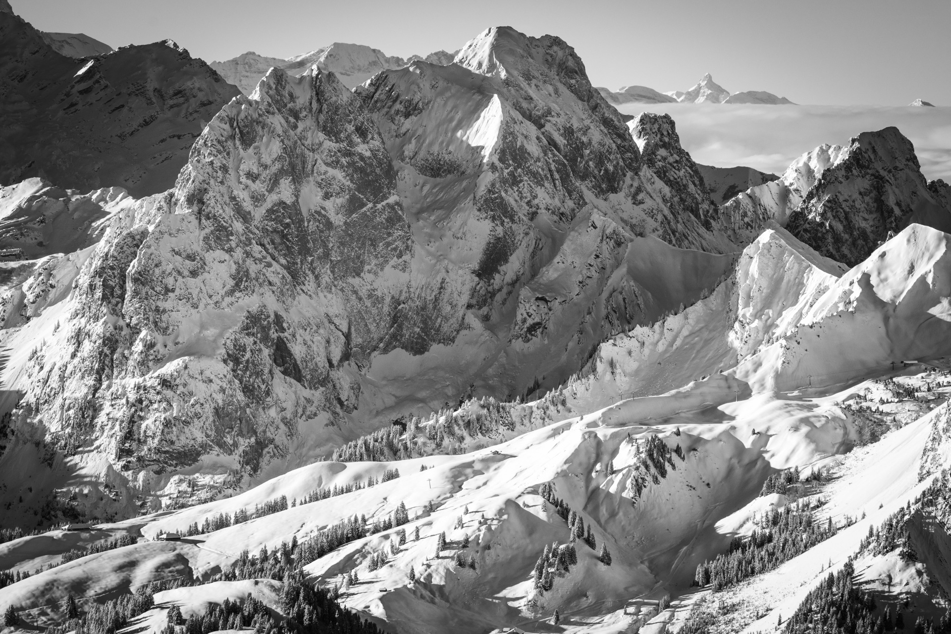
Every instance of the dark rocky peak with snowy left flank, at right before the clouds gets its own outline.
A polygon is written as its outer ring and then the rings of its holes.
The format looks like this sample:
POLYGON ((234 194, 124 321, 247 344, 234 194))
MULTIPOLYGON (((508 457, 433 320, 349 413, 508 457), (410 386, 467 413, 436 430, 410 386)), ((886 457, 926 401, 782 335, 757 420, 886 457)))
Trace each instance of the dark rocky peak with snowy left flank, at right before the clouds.
POLYGON ((925 182, 912 144, 886 127, 805 153, 778 181, 725 203, 720 226, 743 241, 777 221, 823 255, 854 265, 910 222, 951 231, 944 189, 925 182))

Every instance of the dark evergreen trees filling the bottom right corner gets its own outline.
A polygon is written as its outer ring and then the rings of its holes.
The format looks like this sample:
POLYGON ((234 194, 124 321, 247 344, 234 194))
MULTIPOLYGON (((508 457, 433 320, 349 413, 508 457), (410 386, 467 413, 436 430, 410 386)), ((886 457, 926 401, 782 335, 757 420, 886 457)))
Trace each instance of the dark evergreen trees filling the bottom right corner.
MULTIPOLYGON (((786 634, 882 634, 903 631, 904 615, 895 606, 886 605, 878 616, 875 598, 853 586, 855 566, 850 559, 836 574, 829 573, 825 580, 806 595, 786 621, 786 634)), ((918 617, 914 624, 915 634, 951 633, 949 614, 939 624, 931 619, 918 617)))

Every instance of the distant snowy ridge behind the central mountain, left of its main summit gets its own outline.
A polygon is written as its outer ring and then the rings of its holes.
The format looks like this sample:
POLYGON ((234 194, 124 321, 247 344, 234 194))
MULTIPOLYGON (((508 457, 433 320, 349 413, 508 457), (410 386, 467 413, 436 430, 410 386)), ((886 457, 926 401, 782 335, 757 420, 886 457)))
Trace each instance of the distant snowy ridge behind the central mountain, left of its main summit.
POLYGON ((343 86, 353 88, 370 79, 380 70, 402 68, 415 60, 445 66, 453 63, 454 56, 455 53, 437 50, 426 57, 413 55, 404 60, 401 57, 384 55, 377 48, 335 42, 329 47, 318 48, 287 59, 264 57, 255 52, 246 52, 224 62, 212 62, 211 67, 221 73, 229 84, 238 86, 245 95, 250 95, 268 69, 272 67, 282 68, 290 75, 298 76, 316 65, 320 70, 334 72, 343 86))

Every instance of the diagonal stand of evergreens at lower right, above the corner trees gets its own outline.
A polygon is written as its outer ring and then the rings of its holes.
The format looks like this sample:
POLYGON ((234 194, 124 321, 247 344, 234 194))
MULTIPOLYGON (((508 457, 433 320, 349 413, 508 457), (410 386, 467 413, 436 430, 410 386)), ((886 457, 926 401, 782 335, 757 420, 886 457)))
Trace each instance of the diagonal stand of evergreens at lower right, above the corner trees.
POLYGON ((835 533, 832 519, 825 524, 815 522, 807 504, 772 509, 764 513, 761 527, 748 539, 734 539, 728 553, 700 564, 694 583, 712 585, 714 591, 734 586, 780 566, 835 533))

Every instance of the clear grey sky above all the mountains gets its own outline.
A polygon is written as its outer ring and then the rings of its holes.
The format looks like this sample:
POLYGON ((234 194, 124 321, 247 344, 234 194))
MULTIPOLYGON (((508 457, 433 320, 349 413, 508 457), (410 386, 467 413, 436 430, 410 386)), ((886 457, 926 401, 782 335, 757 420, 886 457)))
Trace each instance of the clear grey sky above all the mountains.
POLYGON ((10 0, 37 29, 117 48, 171 38, 206 61, 332 42, 407 57, 507 25, 558 35, 595 86, 730 92, 798 104, 951 106, 951 0, 10 0))

